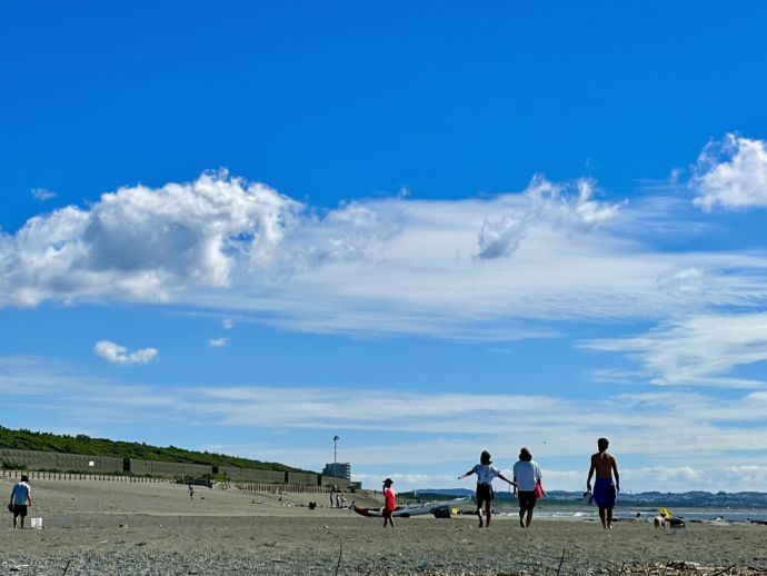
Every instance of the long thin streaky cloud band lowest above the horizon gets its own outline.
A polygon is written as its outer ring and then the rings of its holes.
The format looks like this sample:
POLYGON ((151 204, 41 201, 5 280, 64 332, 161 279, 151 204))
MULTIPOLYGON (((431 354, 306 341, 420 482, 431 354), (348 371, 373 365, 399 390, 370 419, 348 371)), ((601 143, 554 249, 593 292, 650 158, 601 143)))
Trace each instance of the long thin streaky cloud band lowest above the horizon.
MULTIPOLYGON (((492 443, 492 451, 506 458, 516 457, 520 430, 527 441, 546 440, 537 451, 547 456, 567 455, 579 446, 591 446, 597 431, 620 429, 620 450, 645 454, 658 446, 678 443, 680 450, 767 449, 767 435, 757 434, 767 419, 767 394, 755 391, 720 403, 699 394, 659 390, 653 394, 608 396, 601 400, 564 399, 526 394, 455 394, 401 393, 356 388, 278 387, 124 387, 71 374, 58 366, 37 361, 2 359, 0 390, 11 390, 20 383, 19 394, 50 401, 52 407, 68 406, 66 414, 79 417, 81 409, 102 414, 102 404, 112 403, 112 395, 122 397, 123 408, 114 407, 110 417, 141 421, 145 406, 152 398, 158 409, 172 411, 181 420, 215 423, 219 426, 273 429, 356 429, 370 431, 420 433, 425 440, 407 448, 390 440, 367 445, 355 457, 384 460, 387 458, 426 461, 476 459, 474 437, 492 443), (101 390, 87 407, 80 396, 101 390), (133 395, 130 401, 126 395, 133 395), (191 400, 190 400, 191 398, 191 400), (375 406, 375 410, 360 410, 375 406), (599 414, 598 421, 594 415, 599 414), (685 428, 668 437, 668 424, 685 415, 685 428), (478 429, 476 421, 484 426, 478 429), (727 423, 719 427, 716 423, 727 423), (514 429, 509 428, 514 423, 514 429), (745 427, 734 426, 741 423, 745 427), (758 427, 753 425, 758 424, 758 427), (731 425, 731 426, 730 426, 731 425), (434 435, 434 436, 432 436, 434 435), (446 436, 447 435, 447 436, 446 436), (461 439, 461 437, 464 437, 461 439), (428 440, 427 440, 428 439, 428 440), (371 456, 372 455, 372 456, 371 456)), ((62 413, 64 414, 64 413, 62 413)), ((280 447, 285 450, 285 447, 280 447)), ((325 449, 325 448, 323 448, 325 449)), ((345 450, 352 449, 345 445, 345 450)), ((532 448, 536 453, 536 448, 532 448)))

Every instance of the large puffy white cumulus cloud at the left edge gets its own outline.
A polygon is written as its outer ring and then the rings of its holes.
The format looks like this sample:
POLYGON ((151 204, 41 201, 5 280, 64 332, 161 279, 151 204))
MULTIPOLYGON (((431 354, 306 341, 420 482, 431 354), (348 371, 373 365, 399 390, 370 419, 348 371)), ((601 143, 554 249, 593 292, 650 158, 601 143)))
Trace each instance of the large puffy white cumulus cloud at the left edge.
POLYGON ((228 286, 238 259, 270 257, 300 205, 226 173, 104 193, 88 209, 30 219, 0 241, 0 304, 171 300, 228 286))

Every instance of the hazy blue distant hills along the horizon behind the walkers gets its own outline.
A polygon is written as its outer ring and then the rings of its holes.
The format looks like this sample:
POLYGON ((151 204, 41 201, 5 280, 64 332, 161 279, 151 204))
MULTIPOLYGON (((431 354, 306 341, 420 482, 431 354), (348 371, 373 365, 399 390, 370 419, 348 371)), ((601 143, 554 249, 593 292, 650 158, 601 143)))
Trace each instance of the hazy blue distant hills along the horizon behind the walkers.
MULTIPOLYGON (((448 500, 465 496, 474 496, 474 490, 467 488, 425 488, 422 490, 401 493, 402 498, 418 498, 421 500, 448 500)), ((547 490, 546 499, 548 504, 582 504, 584 494, 579 491, 547 490)), ((509 499, 512 496, 507 489, 496 491, 499 500, 509 499)), ((730 508, 767 508, 767 493, 760 491, 737 491, 716 494, 709 491, 686 491, 686 493, 661 493, 645 491, 638 494, 621 493, 618 498, 620 504, 647 505, 647 506, 674 506, 674 507, 730 507, 730 508)))

